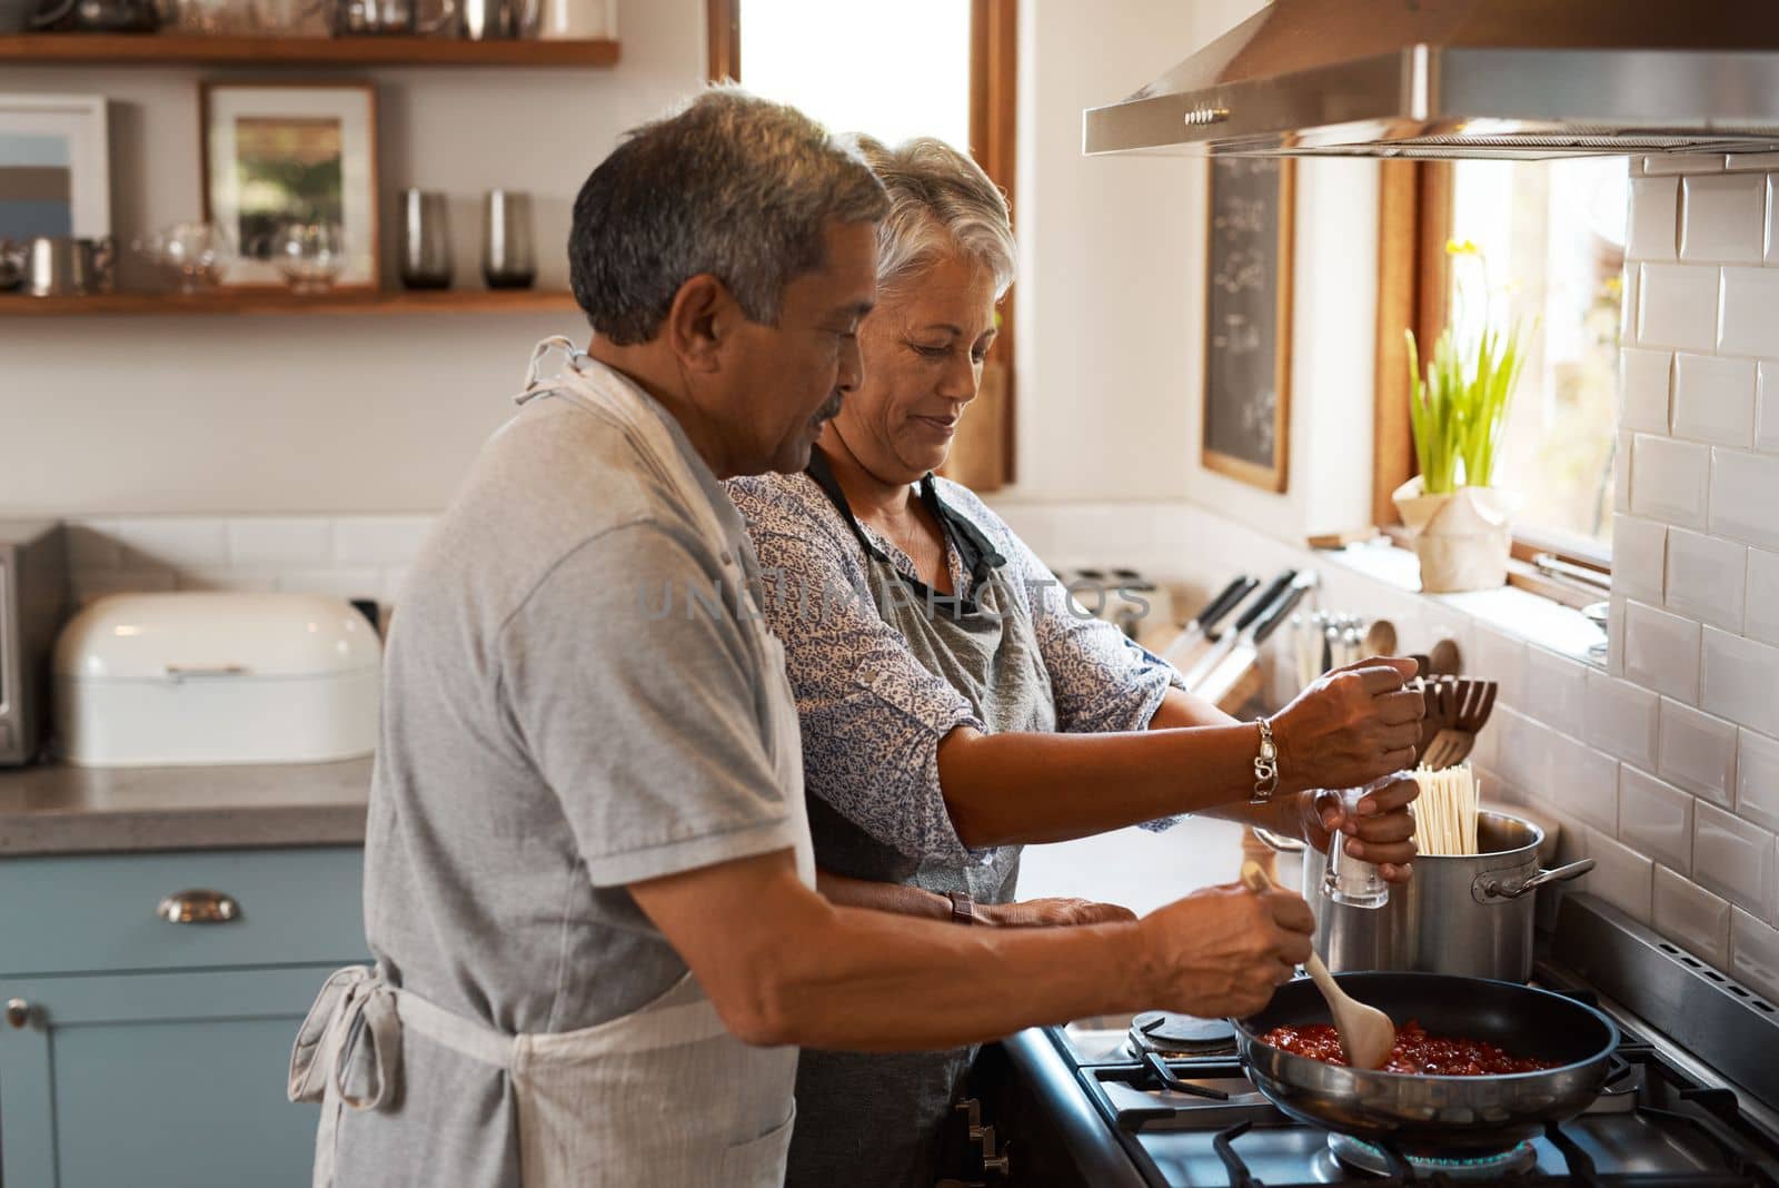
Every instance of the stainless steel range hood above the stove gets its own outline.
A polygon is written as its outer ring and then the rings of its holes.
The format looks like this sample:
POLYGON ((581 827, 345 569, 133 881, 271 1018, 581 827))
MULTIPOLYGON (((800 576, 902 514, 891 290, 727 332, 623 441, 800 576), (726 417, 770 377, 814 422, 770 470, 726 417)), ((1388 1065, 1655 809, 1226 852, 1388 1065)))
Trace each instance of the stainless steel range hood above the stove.
POLYGON ((1779 0, 1276 0, 1083 149, 1587 157, 1779 148, 1779 0))

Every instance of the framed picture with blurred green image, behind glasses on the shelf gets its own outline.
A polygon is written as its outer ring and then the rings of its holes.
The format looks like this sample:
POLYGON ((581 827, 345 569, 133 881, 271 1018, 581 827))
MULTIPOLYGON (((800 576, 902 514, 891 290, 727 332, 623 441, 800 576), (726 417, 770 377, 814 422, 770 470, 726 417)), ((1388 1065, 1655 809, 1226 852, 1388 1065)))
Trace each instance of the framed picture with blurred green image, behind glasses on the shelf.
POLYGON ((347 263, 334 288, 377 288, 377 94, 368 82, 201 89, 205 219, 235 240, 224 285, 283 286, 292 222, 334 222, 347 263))

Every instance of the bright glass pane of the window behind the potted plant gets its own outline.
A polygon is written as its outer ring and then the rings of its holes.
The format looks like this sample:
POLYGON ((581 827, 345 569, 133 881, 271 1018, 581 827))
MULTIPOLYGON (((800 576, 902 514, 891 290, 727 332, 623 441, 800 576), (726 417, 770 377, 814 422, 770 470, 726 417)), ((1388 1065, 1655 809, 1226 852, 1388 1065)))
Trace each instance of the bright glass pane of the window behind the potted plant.
POLYGON ((1525 498, 1521 535, 1601 560, 1612 546, 1628 176, 1617 157, 1462 160, 1452 176, 1450 235, 1480 249, 1450 261, 1453 325, 1475 333, 1485 285, 1496 324, 1525 327, 1494 482, 1525 498))

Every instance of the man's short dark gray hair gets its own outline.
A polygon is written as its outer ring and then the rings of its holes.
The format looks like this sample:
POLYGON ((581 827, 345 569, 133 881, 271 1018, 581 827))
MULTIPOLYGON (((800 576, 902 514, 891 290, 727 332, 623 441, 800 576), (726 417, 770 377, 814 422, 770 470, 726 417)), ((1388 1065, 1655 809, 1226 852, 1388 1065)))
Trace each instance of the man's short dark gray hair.
POLYGON ((795 107, 712 87, 633 128, 575 199, 569 283, 614 345, 655 338, 690 277, 720 279, 774 324, 785 285, 822 265, 831 221, 890 203, 857 151, 795 107))

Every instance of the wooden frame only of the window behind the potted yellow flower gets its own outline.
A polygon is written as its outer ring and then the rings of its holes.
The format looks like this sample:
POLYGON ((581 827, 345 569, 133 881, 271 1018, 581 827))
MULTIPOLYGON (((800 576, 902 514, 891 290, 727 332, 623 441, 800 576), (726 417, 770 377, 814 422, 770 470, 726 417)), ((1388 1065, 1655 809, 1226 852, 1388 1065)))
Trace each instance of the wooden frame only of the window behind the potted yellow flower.
MULTIPOLYGON (((1446 322, 1452 263, 1445 244, 1452 235, 1453 169, 1445 160, 1386 160, 1381 169, 1372 516, 1386 534, 1405 542, 1402 516, 1389 498, 1418 473, 1409 425, 1409 352, 1402 329, 1413 327, 1416 341, 1430 343, 1446 322)), ((1612 574, 1608 550, 1516 526, 1509 585, 1569 606, 1606 596, 1587 582, 1546 573, 1541 560, 1578 566, 1605 580, 1612 574)))

